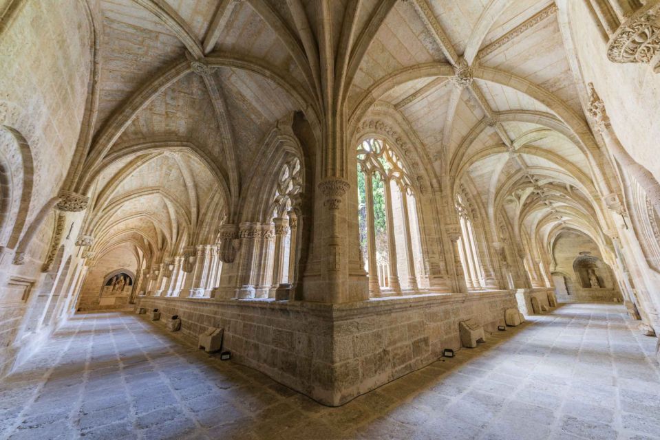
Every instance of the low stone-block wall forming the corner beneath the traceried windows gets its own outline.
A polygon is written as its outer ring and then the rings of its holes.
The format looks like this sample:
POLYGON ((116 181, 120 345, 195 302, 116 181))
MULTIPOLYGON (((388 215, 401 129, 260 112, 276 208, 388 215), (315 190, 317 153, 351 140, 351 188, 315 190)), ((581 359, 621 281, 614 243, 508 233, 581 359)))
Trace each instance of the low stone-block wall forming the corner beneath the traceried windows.
MULTIPOLYGON (((496 329, 513 292, 427 294, 342 305, 138 297, 136 307, 178 315, 191 342, 224 328, 223 349, 322 404, 339 406, 460 348, 458 322, 496 329)), ((146 315, 148 316, 148 315, 146 315)), ((146 317, 145 316, 145 317, 146 317)))

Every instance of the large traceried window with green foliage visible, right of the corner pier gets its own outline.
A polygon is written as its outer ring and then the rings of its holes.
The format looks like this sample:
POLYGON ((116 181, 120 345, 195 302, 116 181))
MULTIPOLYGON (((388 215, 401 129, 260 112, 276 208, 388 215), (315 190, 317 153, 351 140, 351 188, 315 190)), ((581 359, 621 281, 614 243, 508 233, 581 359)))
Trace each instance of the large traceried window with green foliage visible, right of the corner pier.
POLYGON ((360 248, 370 294, 416 290, 421 245, 411 180, 383 139, 364 140, 356 153, 360 248))

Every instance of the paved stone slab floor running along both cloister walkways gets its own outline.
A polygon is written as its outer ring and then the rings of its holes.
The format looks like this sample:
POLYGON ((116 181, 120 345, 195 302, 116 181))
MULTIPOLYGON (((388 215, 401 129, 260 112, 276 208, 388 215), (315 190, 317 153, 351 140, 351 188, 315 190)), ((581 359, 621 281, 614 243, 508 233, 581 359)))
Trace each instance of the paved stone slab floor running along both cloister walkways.
POLYGON ((654 338, 572 304, 328 408, 146 320, 76 316, 0 383, 2 439, 660 439, 654 338))

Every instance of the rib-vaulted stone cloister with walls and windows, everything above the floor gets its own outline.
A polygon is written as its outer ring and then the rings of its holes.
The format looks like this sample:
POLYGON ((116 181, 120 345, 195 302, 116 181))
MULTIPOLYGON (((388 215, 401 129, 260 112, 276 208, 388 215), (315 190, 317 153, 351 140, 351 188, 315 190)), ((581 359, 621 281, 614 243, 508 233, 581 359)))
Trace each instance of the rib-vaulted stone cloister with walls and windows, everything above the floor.
POLYGON ((1 375, 141 308, 330 406, 555 296, 660 333, 660 0, 0 17, 1 375))

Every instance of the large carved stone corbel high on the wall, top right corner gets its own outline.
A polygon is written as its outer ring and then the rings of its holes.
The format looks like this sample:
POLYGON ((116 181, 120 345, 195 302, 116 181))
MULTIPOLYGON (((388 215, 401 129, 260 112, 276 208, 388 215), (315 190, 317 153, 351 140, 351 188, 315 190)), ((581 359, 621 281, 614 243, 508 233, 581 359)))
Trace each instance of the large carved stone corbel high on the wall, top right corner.
POLYGON ((613 63, 644 63, 660 72, 660 3, 649 1, 632 14, 610 39, 607 57, 613 63))

